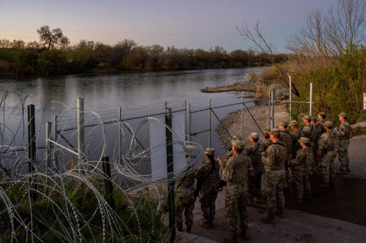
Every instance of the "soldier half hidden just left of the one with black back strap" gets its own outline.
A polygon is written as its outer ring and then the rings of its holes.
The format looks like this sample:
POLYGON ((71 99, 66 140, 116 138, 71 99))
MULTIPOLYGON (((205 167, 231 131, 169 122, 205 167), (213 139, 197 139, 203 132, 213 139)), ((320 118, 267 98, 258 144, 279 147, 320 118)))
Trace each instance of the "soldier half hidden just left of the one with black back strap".
POLYGON ((261 153, 264 151, 262 144, 258 143, 259 135, 256 132, 250 134, 250 144, 245 147, 254 169, 254 176, 249 176, 249 200, 248 203, 259 203, 262 196, 263 163, 261 153))

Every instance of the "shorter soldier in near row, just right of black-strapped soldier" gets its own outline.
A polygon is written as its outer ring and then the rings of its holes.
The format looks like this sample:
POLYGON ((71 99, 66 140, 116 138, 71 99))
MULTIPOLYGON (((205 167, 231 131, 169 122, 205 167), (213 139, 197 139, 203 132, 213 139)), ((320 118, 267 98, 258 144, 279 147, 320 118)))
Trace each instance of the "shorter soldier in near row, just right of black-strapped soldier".
POLYGON ((296 157, 291 161, 292 172, 295 177, 296 198, 292 202, 302 203, 302 198, 311 198, 311 188, 309 183, 309 172, 313 165, 313 150, 308 146, 310 140, 307 137, 299 139, 301 149, 296 152, 296 157), (305 194, 303 190, 305 189, 305 194))

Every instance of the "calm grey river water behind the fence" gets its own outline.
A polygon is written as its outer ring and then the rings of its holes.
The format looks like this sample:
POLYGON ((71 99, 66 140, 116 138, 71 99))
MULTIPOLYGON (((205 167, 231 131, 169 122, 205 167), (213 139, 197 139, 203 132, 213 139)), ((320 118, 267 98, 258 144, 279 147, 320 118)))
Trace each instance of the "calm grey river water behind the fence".
MULTIPOLYGON (((27 96, 25 107, 28 104, 36 106, 36 129, 39 128, 37 146, 45 144, 44 127, 41 121, 52 121, 53 115, 59 114, 65 107, 76 107, 76 98, 84 97, 85 110, 95 111, 103 117, 117 119, 117 111, 122 107, 122 118, 136 117, 141 115, 162 112, 164 102, 168 107, 175 106, 176 109, 183 108, 183 103, 192 104, 192 109, 207 107, 208 99, 212 99, 213 106, 220 104, 234 103, 235 96, 241 96, 240 92, 202 93, 199 90, 206 87, 222 86, 233 84, 236 81, 244 80, 247 73, 261 71, 263 67, 236 68, 236 69, 205 69, 205 70, 183 70, 183 71, 146 71, 146 72, 121 72, 115 74, 70 74, 59 76, 0 76, 0 90, 11 92, 5 102, 1 104, 2 124, 6 124, 11 132, 3 132, 5 145, 9 145, 11 136, 16 134, 12 146, 20 146, 24 143, 27 147, 26 122, 22 133, 22 109, 19 105, 19 97, 24 99, 27 96), (18 97, 19 96, 19 97, 18 97), (51 100, 56 101, 50 103, 51 100), (47 104, 45 109, 42 106, 47 104), (108 112, 111 111, 111 112, 108 112), (149 113, 151 111, 151 113, 149 113), (20 128, 19 128, 20 125, 20 128), (22 136, 24 134, 24 136, 22 136), (25 142, 23 142, 23 140, 25 142)), ((236 99, 240 102, 240 99, 236 99)), ((248 106, 251 104, 249 103, 248 106)), ((220 119, 223 119, 229 112, 238 110, 241 106, 233 106, 221 110, 215 110, 220 119)), ((27 111, 25 108, 25 120, 27 111)), ((75 113, 75 112, 74 112, 75 113)), ((222 154, 225 148, 217 139, 214 127, 219 121, 212 115, 212 147, 217 147, 222 154)), ((75 119, 74 119, 75 120, 75 119)), ((139 121, 131 121, 131 123, 139 121)), ((70 124, 68 124, 70 125, 70 124)), ((68 125, 63 126, 67 128, 68 125)), ((75 122, 74 122, 75 125, 75 122)), ((3 126, 3 125, 2 125, 3 126)), ((72 126, 72 124, 70 125, 72 126)), ((208 111, 192 114, 192 133, 208 128, 208 111)), ((107 135, 115 137, 116 130, 107 131, 107 135)), ((7 129, 5 129, 7 130, 7 129)), ((4 129, 3 129, 4 131, 4 129)), ((66 133, 65 133, 66 134, 66 133)), ((86 132, 87 135, 87 132, 86 132)), ((71 141, 75 144, 75 133, 72 133, 71 141)), ((201 133, 197 136, 203 147, 208 146, 208 133, 201 133)), ((91 141, 98 140, 98 134, 89 134, 91 141)), ((115 138, 114 138, 115 139, 115 138)), ((87 141, 86 141, 87 142, 87 141)), ((93 142, 91 142, 93 143, 93 142)), ((108 145, 109 148, 115 146, 108 145)), ((97 145, 90 145, 89 149, 94 150, 97 145), (93 148, 93 149, 91 149, 93 148)), ((90 152, 92 153, 92 152, 90 152)))

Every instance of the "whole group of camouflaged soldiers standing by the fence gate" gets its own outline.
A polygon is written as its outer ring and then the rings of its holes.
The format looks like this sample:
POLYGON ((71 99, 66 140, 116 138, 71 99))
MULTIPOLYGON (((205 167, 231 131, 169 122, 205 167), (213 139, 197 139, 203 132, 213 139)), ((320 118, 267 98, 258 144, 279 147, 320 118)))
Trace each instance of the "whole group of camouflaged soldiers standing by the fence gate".
POLYGON ((296 195, 291 200, 296 203, 302 203, 303 198, 311 199, 309 175, 315 170, 322 173, 323 182, 319 187, 335 185, 337 154, 341 163, 341 170, 337 173, 350 172, 348 145, 352 129, 346 113, 339 114, 341 125, 335 129, 325 117, 324 112, 318 114, 318 121, 310 115, 304 115, 303 129, 299 128, 297 121, 290 121, 292 132, 287 129, 288 122, 282 121, 278 128, 264 131, 263 143, 259 143, 258 133, 250 134, 248 144, 241 137, 234 136, 231 151, 225 158, 214 159, 214 149, 206 148, 206 161, 195 172, 188 173, 176 182, 179 203, 176 203, 175 221, 178 231, 183 231, 184 210, 187 232, 191 232, 196 196, 201 203, 201 227, 213 227, 215 201, 219 187, 223 185, 226 185, 225 216, 231 231, 231 236, 225 238, 225 242, 238 242, 238 237, 249 239, 246 207, 259 203, 262 198, 262 174, 268 214, 261 221, 269 224, 276 223, 275 214, 285 217, 283 187, 288 187, 289 183, 295 184, 296 195), (220 166, 223 167, 221 176, 220 166), (197 189, 194 189, 195 178, 197 189))

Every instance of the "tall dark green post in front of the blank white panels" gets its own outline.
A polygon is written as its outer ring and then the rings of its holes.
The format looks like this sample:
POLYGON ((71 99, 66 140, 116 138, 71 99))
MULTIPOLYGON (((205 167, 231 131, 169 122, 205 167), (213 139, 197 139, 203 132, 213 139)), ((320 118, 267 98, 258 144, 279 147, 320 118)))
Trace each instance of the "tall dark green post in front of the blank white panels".
MULTIPOLYGON (((165 115, 165 123, 169 128, 172 127, 172 110, 167 108, 165 115)), ((175 203, 174 203, 174 184, 173 177, 173 135, 172 132, 166 128, 165 134, 167 136, 167 167, 168 167, 168 206, 169 206, 169 230, 171 232, 170 242, 175 241, 175 203)))

